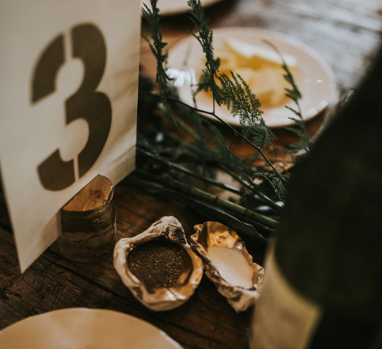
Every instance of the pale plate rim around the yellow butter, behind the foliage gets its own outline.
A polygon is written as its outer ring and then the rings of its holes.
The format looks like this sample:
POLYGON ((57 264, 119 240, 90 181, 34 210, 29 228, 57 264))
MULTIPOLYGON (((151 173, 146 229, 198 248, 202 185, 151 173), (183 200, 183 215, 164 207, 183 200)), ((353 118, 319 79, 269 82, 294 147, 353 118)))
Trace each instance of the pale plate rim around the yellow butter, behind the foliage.
MULTIPOLYGON (((269 49, 269 46, 263 42, 263 40, 268 40, 276 45, 283 54, 290 54, 295 57, 296 66, 300 72, 300 78, 296 82, 302 94, 300 105, 304 120, 313 118, 336 99, 336 84, 331 67, 317 51, 303 42, 285 34, 258 28, 224 27, 213 30, 213 44, 216 51, 223 47, 226 37, 233 37, 269 49)), ((182 39, 170 49, 168 66, 184 70, 183 62, 186 57, 188 57, 187 67, 194 69, 196 76, 198 76, 204 64, 204 58, 199 43, 192 36, 182 39)), ((256 93, 256 91, 254 92, 256 93)), ((193 105, 190 86, 185 84, 179 88, 179 94, 182 101, 193 105)), ((211 98, 206 94, 199 94, 196 103, 199 109, 212 111, 211 98)), ((287 105, 294 107, 293 102, 287 105)), ((264 120, 269 127, 293 124, 288 118, 295 117, 295 115, 285 106, 263 109, 263 111, 264 120)), ((224 106, 218 107, 216 114, 231 125, 240 125, 239 118, 233 117, 224 106)), ((205 116, 213 118, 207 114, 205 116)))

